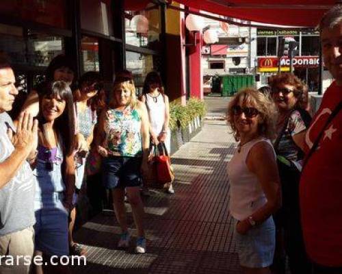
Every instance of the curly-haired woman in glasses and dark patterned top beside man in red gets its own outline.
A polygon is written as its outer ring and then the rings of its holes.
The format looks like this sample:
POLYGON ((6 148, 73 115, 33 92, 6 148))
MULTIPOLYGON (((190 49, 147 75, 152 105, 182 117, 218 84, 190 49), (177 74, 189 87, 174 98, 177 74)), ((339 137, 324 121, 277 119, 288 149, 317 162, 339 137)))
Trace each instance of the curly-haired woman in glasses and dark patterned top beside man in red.
MULTIPOLYGON (((304 153, 293 139, 295 134, 305 130, 311 122, 311 116, 306 111, 308 88, 292 73, 280 73, 270 77, 269 86, 279 113, 277 138, 274 141, 282 184, 282 208, 275 216, 277 240, 279 246, 280 242, 285 243, 292 274, 311 273, 311 264, 306 256, 302 238, 299 208, 299 181, 304 153), (281 229, 284 229, 285 240, 281 240, 281 229)), ((274 267, 285 269, 285 263, 274 267)))

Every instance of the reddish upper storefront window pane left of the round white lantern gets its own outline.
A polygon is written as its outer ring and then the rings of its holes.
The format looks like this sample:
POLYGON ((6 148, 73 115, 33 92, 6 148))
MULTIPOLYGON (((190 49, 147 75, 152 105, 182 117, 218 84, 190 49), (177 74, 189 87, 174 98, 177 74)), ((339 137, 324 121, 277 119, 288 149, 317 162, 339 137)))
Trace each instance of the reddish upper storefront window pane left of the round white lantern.
POLYGON ((81 29, 113 36, 111 0, 81 0, 81 29))

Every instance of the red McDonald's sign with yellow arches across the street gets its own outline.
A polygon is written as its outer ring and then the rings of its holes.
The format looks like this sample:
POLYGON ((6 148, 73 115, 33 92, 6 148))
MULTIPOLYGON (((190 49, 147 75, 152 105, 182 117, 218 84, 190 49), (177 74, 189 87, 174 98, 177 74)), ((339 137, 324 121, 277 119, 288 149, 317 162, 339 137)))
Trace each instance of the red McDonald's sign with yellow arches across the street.
MULTIPOLYGON (((318 56, 296 56, 292 59, 294 67, 315 68, 319 66, 318 56)), ((260 69, 272 69, 278 67, 278 58, 261 57, 258 58, 258 66, 260 69)), ((280 58, 280 66, 290 66, 290 58, 280 58)))

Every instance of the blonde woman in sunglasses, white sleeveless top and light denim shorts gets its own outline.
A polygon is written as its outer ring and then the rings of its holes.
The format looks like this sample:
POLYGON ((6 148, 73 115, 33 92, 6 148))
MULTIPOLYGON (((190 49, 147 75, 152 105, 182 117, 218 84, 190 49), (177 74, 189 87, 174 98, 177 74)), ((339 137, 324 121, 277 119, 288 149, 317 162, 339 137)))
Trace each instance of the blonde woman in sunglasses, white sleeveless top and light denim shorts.
POLYGON ((241 90, 228 105, 228 123, 239 141, 228 162, 230 213, 239 262, 245 273, 269 273, 275 248, 272 214, 280 204, 280 183, 272 142, 274 103, 258 90, 241 90))

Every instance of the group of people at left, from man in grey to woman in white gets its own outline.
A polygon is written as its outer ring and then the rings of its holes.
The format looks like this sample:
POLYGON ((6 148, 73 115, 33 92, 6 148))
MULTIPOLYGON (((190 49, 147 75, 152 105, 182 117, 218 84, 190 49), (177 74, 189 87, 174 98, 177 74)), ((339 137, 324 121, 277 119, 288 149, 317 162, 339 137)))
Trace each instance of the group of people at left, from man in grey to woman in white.
MULTIPOLYGON (((14 71, 1 56, 0 273, 69 273, 51 258, 86 255, 73 240, 73 227, 88 173, 99 175, 111 192, 122 229, 118 247, 130 243, 127 196, 137 227, 135 251, 145 253, 140 190, 150 168, 150 142, 170 149, 168 97, 158 73, 148 73, 142 100, 129 71, 116 74, 107 97, 99 73, 84 73, 76 82, 72 60, 58 55, 12 121, 8 112, 16 95, 14 71), (31 265, 36 256, 42 265, 31 265)), ((174 192, 171 182, 166 191, 174 192)))

